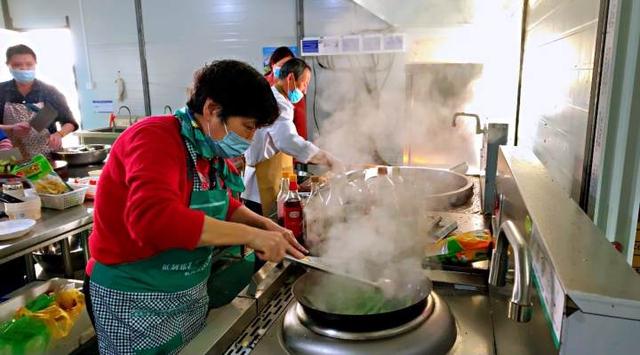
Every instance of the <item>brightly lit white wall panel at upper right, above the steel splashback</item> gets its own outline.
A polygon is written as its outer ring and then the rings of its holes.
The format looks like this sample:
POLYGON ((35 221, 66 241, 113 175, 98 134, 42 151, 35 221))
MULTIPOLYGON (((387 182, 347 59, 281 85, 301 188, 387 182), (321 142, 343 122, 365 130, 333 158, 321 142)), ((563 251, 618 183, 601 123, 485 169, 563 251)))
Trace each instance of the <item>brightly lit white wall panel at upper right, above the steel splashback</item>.
POLYGON ((530 1, 519 144, 580 197, 599 0, 530 1))

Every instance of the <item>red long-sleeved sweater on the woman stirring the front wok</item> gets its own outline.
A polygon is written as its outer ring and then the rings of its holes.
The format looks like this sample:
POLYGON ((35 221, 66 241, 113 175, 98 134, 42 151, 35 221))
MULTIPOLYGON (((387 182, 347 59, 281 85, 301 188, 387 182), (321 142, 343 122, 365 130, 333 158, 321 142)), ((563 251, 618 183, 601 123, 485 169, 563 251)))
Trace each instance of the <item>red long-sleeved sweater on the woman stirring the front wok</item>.
MULTIPOLYGON (((191 189, 174 116, 149 117, 124 131, 98 182, 87 274, 96 260, 120 264, 168 249, 194 249, 204 213, 189 208, 191 189)), ((230 199, 227 219, 240 205, 230 199)))

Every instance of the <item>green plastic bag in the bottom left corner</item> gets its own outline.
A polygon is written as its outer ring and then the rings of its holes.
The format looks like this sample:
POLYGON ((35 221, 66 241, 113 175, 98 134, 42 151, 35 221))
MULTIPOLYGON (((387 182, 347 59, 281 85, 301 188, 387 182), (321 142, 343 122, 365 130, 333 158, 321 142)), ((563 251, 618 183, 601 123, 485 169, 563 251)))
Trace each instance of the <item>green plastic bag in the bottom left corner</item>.
POLYGON ((0 324, 0 355, 45 354, 51 334, 38 319, 23 317, 0 324))

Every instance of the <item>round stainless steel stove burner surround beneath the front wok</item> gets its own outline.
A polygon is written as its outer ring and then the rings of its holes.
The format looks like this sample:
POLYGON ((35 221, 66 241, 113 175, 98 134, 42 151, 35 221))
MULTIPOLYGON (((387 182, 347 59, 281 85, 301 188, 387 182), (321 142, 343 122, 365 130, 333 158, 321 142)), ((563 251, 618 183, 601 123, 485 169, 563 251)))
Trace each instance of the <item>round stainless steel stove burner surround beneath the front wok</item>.
POLYGON ((446 354, 455 343, 456 325, 447 304, 431 292, 415 319, 372 332, 345 332, 313 323, 297 302, 286 311, 282 340, 292 354, 446 354))

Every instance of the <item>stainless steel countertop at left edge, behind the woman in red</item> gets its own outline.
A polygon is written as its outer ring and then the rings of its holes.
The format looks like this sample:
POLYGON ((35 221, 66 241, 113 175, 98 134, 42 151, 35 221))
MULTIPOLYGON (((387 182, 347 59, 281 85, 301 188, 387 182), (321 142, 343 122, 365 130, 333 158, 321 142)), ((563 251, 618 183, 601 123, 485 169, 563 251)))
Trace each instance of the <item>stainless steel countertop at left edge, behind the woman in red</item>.
POLYGON ((44 208, 32 231, 20 238, 0 241, 0 264, 18 258, 70 234, 91 228, 93 202, 58 211, 44 208))

